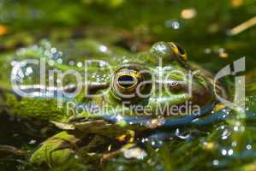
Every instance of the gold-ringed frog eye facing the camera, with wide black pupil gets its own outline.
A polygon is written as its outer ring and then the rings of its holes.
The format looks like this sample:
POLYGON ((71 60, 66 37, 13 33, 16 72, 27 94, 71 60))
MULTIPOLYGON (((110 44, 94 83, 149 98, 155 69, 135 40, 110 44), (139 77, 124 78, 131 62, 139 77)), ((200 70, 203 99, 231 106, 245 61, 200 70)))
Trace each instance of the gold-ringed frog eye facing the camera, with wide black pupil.
POLYGON ((113 79, 111 92, 114 97, 120 100, 145 97, 151 89, 151 83, 146 82, 149 76, 145 70, 125 66, 116 70, 113 79))

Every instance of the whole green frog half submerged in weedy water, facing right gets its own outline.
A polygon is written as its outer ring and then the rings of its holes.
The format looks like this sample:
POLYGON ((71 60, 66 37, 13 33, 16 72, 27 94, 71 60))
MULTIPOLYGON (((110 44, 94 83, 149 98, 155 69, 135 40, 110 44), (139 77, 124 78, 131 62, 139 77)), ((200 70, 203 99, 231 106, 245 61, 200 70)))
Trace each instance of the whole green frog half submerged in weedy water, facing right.
MULTIPOLYGON (((104 162, 119 154, 143 158, 146 152, 139 148, 141 144, 158 146, 173 134, 187 139, 179 127, 211 117, 217 103, 213 77, 188 62, 180 44, 158 42, 139 53, 90 39, 71 45, 56 48, 44 40, 22 48, 12 58, 12 67, 29 57, 43 59, 46 71, 73 69, 86 79, 79 82, 69 73, 58 80, 59 75, 46 72, 45 85, 39 85, 42 72, 24 64, 20 69, 25 76, 17 72, 12 79, 29 97, 22 97, 9 84, 1 87, 3 111, 26 123, 23 129, 28 134, 48 138, 50 127, 51 135, 59 132, 39 145, 30 162, 61 164, 77 156, 99 156, 104 162)), ((217 93, 224 93, 219 85, 217 93)))

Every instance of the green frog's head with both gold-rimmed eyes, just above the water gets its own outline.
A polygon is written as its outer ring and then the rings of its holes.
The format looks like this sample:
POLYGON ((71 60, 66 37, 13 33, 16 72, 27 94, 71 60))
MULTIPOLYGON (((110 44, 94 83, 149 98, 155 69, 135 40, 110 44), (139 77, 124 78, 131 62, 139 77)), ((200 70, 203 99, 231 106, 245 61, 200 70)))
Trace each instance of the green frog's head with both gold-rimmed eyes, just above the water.
POLYGON ((170 115, 173 109, 184 114, 183 110, 191 111, 193 105, 210 103, 211 79, 199 69, 191 68, 187 60, 180 44, 153 44, 146 53, 131 57, 116 68, 110 91, 100 98, 101 105, 104 101, 108 108, 116 109, 112 112, 123 112, 121 107, 125 106, 125 113, 130 115, 170 115))

